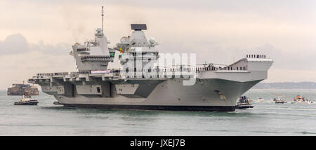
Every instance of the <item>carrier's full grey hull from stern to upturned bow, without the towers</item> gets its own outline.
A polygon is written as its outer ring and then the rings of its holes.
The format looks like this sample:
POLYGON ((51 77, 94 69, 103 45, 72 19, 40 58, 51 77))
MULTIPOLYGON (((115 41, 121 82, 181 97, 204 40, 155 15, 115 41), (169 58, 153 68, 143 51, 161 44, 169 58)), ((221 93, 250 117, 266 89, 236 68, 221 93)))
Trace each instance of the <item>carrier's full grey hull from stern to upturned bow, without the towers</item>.
MULTIPOLYGON (((244 58, 231 66, 246 70, 197 71, 187 79, 122 79, 118 74, 37 74, 29 83, 41 86, 66 107, 179 111, 235 111, 237 98, 268 76, 270 59, 244 58)), ((230 66, 229 66, 230 67, 230 66)))

